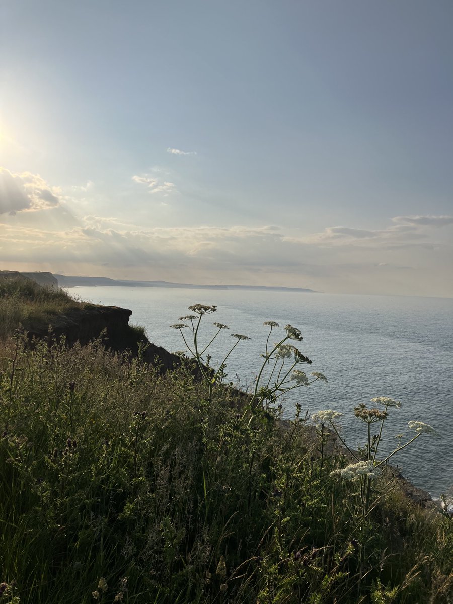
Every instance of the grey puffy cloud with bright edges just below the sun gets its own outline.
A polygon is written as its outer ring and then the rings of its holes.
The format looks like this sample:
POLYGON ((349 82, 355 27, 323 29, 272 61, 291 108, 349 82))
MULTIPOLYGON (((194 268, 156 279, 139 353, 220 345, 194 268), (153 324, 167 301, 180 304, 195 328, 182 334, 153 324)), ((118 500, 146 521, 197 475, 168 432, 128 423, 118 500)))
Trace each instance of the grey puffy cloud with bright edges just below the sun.
POLYGON ((0 214, 55 208, 60 205, 59 192, 37 174, 0 168, 0 214))

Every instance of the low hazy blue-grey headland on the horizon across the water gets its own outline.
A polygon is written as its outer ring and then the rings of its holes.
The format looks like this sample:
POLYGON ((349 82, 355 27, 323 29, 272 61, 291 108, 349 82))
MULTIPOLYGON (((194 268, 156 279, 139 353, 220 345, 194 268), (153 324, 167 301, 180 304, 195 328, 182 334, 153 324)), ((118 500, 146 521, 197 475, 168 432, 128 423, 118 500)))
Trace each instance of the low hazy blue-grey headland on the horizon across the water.
POLYGON ((86 288, 86 287, 120 287, 120 288, 174 288, 174 289, 222 289, 246 290, 269 292, 298 292, 303 294, 318 294, 313 289, 283 288, 265 285, 199 285, 195 283, 170 283, 169 281, 130 281, 110 279, 108 277, 69 277, 66 275, 53 275, 60 288, 86 288))

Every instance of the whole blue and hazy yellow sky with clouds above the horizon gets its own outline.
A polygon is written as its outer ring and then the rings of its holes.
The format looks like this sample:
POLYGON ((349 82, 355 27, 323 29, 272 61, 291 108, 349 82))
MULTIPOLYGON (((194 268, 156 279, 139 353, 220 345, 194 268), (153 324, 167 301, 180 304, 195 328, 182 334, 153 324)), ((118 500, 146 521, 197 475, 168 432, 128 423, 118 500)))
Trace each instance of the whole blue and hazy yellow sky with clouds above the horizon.
POLYGON ((3 0, 0 269, 453 297, 451 0, 3 0))

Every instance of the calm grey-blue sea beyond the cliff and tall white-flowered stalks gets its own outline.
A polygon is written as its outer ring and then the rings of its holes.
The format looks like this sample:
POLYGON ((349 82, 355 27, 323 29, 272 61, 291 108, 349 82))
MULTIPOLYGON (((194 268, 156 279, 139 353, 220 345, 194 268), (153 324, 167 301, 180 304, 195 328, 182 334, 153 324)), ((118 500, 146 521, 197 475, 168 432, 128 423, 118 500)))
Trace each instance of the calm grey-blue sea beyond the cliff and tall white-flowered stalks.
POLYGON ((131 323, 145 326, 149 339, 170 352, 185 349, 179 331, 170 324, 178 323, 190 304, 217 304, 219 310, 204 317, 204 341, 213 335, 213 321, 230 330, 223 330, 216 340, 213 361, 222 361, 236 341, 231 333, 252 338, 239 342, 228 359, 228 381, 239 381, 242 388, 260 368, 268 335, 263 322, 280 323, 272 343, 283 338, 283 326, 291 323, 303 333, 301 352, 313 361, 311 367, 301 368, 307 373, 321 371, 329 383, 318 381, 288 394, 284 416, 292 417, 297 400, 303 410, 341 411, 344 437, 355 447, 364 443, 366 426, 353 416, 353 407, 374 396, 400 400, 402 408, 390 410, 382 451, 392 450, 399 432, 410 434, 408 421, 432 425, 440 439, 422 434, 393 463, 434 497, 452 489, 453 300, 165 288, 76 288, 70 293, 131 309, 131 323))

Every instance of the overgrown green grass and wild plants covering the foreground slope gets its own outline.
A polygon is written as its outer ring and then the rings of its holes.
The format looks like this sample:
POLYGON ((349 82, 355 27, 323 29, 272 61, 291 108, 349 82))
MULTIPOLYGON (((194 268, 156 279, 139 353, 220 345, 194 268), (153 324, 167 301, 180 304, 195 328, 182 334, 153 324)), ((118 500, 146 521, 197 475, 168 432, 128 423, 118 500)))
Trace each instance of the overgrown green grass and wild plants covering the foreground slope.
POLYGON ((223 368, 25 339, 0 351, 1 604, 452 602, 451 519, 385 472, 339 480, 272 381, 246 399, 223 368))

